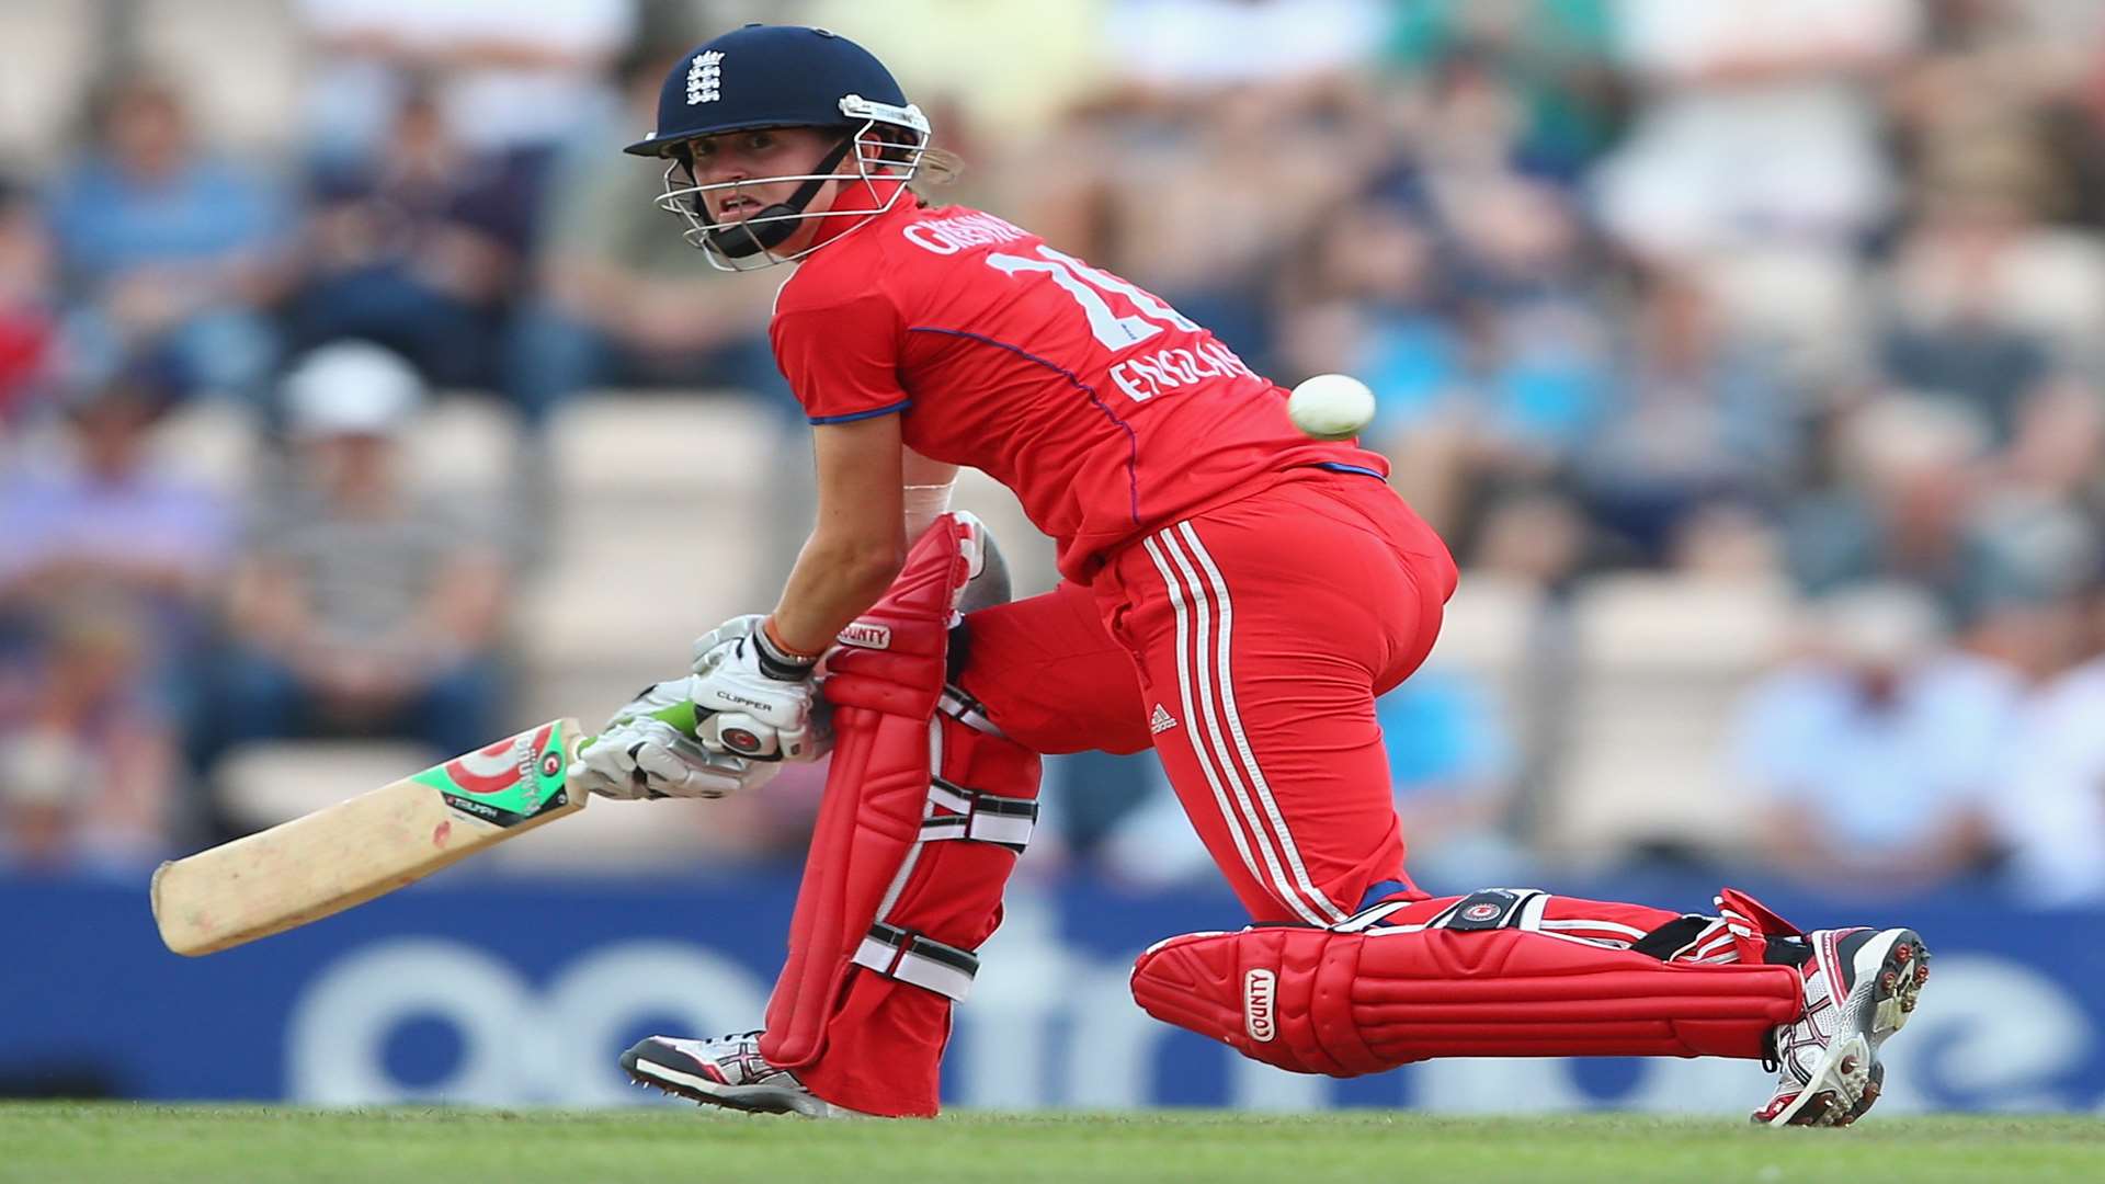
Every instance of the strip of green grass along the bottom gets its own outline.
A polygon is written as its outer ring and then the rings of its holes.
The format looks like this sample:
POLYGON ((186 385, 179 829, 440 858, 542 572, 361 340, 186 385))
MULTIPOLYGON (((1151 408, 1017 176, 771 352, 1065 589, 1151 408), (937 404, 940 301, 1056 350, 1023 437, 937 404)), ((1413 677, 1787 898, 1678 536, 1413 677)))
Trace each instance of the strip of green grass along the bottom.
POLYGON ((2105 1119, 1873 1114, 1848 1131, 1764 1131, 1724 1119, 1436 1119, 1364 1110, 962 1112, 935 1123, 808 1123, 688 1110, 0 1104, 0 1182, 17 1180, 2088 1182, 2105 1180, 2105 1119))

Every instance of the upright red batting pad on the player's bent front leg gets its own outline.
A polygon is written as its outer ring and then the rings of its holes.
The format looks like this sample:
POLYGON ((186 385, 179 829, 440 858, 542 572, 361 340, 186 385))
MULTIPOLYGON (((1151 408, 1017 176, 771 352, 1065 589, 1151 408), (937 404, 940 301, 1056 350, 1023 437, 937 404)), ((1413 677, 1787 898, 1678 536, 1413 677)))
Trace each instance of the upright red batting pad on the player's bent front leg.
POLYGON ((1017 851, 994 841, 924 841, 937 771, 930 727, 951 786, 1013 801, 1038 794, 1036 752, 937 712, 951 607, 970 577, 958 552, 966 529, 937 518, 886 598, 827 657, 834 765, 760 1037, 770 1064, 865 1114, 937 1112, 951 1009, 945 994, 853 961, 871 923, 977 950, 1000 923, 1017 864, 1017 851))

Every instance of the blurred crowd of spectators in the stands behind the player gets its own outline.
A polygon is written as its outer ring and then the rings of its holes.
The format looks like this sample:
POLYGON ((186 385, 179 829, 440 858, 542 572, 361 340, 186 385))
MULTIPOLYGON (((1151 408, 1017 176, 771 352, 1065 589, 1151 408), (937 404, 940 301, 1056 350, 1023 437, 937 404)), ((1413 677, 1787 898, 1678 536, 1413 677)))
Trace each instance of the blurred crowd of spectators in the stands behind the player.
MULTIPOLYGON (((514 718, 507 596, 545 556, 394 440, 463 390, 528 457, 608 388, 787 407, 773 280, 711 272, 617 152, 680 48, 770 19, 893 65, 968 162, 935 200, 1282 383, 1364 377, 1467 577, 1549 605, 1545 666, 1604 573, 1787 586, 1701 790, 1756 826, 1705 857, 2105 900, 2105 6, 876 8, 297 0, 267 154, 171 63, 103 63, 69 147, 0 171, 0 432, 42 442, 0 453, 0 866, 219 836, 255 739, 450 754, 514 718), (158 463, 200 404, 253 419, 250 497, 158 463)), ((1429 887, 1558 862, 1556 727, 1438 664, 1381 710, 1429 887)), ((1206 874, 1145 761, 1050 780, 1065 864, 1206 874)))

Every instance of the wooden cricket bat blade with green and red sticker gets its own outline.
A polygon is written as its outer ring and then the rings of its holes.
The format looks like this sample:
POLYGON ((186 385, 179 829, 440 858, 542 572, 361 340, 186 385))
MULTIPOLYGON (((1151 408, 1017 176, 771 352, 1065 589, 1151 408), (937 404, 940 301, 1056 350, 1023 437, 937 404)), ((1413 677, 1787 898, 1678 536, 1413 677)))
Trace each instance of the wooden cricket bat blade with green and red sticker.
POLYGON ((575 718, 526 729, 389 786, 162 864, 154 921, 177 954, 215 954, 387 895, 493 843, 585 809, 564 773, 575 718))

